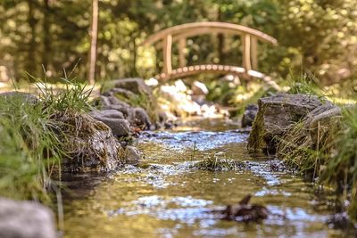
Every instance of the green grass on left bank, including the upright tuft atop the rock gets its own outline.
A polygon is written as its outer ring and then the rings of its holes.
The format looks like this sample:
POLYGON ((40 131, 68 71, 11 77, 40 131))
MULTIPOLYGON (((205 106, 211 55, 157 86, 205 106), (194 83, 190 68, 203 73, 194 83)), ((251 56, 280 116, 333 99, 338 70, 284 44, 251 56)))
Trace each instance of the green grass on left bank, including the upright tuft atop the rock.
POLYGON ((66 135, 55 115, 89 110, 91 90, 62 78, 54 89, 36 78, 39 101, 16 94, 0 98, 0 196, 49 202, 53 177, 61 178, 66 135))

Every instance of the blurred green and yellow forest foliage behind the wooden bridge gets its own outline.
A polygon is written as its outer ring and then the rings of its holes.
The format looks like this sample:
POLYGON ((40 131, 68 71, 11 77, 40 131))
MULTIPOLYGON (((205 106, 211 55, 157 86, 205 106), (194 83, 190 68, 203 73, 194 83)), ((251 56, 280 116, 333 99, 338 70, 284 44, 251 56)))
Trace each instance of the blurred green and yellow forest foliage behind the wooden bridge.
MULTIPOLYGON (((26 70, 48 76, 72 68, 87 74, 91 1, 9 1, 0 4, 0 66, 19 79, 26 70), (75 34, 74 34, 75 33, 75 34), (65 49, 65 50, 63 50, 65 49)), ((145 37, 174 25, 194 21, 227 21, 259 29, 278 38, 279 45, 259 45, 259 70, 303 68, 324 83, 353 78, 357 61, 357 14, 352 0, 131 0, 99 1, 96 78, 150 78, 162 69, 162 53, 142 47, 145 37)), ((192 37, 187 63, 239 65, 239 37, 192 37), (237 62, 237 63, 234 63, 237 62)), ((173 47, 174 65, 178 64, 173 47)), ((4 76, 2 76, 4 77, 4 76)), ((6 78, 6 77, 4 77, 6 78)))

